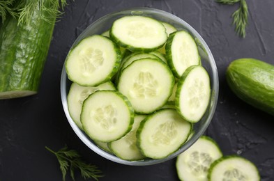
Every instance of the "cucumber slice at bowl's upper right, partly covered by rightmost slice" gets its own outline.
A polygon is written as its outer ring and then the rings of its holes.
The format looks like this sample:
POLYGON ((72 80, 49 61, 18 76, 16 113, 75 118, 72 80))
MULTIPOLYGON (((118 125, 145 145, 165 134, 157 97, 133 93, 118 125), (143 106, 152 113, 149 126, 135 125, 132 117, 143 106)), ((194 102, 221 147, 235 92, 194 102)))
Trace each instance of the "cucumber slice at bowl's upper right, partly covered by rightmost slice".
POLYGON ((175 77, 181 77, 190 65, 199 65, 199 52, 195 40, 186 31, 175 31, 167 39, 166 58, 175 77))

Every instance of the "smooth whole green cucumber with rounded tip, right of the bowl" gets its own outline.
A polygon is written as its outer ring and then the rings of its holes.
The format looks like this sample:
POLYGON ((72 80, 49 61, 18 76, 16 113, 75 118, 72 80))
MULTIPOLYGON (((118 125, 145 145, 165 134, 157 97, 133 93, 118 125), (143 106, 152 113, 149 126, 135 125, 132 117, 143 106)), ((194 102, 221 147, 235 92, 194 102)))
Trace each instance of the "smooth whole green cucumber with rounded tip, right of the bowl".
POLYGON ((227 83, 241 100, 274 116, 274 65, 240 58, 227 68, 227 83))

